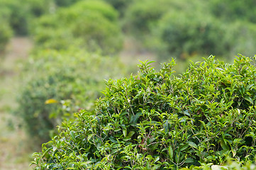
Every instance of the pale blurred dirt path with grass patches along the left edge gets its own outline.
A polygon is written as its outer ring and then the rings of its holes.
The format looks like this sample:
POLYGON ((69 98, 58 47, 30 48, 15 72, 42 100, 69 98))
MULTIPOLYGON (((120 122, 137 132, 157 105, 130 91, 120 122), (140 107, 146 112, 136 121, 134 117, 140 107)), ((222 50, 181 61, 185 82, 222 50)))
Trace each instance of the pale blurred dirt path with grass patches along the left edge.
POLYGON ((18 75, 21 61, 26 60, 32 42, 28 38, 13 38, 4 60, 0 60, 0 169, 29 169, 30 149, 25 132, 11 111, 16 107, 18 75))

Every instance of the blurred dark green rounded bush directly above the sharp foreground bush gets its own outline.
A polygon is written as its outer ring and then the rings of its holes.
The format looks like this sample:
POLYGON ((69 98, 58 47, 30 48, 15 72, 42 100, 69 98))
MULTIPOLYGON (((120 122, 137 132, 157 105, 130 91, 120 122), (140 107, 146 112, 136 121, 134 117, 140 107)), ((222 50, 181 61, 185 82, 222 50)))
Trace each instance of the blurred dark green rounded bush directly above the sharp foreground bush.
POLYGON ((158 25, 155 33, 162 42, 162 56, 230 54, 233 45, 230 29, 205 13, 172 11, 166 13, 158 25))

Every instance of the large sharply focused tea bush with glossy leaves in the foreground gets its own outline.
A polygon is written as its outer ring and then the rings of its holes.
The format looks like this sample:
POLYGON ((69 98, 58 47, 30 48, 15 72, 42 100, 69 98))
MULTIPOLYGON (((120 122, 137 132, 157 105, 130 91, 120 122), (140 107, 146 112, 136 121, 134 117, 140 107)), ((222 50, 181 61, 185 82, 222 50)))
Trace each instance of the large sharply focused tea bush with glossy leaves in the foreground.
MULTIPOLYGON (((254 60, 255 61, 255 60, 254 60)), ((110 80, 95 111, 80 111, 35 153, 35 169, 181 169, 256 154, 256 67, 214 57, 173 75, 150 62, 110 80)), ((200 169, 200 168, 199 168, 200 169)))

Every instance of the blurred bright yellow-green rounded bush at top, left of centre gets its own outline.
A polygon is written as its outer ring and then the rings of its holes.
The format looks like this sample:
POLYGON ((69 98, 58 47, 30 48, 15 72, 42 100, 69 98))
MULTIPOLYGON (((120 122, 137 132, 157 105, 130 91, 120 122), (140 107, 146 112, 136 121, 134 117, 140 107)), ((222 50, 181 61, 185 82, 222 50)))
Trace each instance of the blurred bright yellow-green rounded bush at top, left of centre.
POLYGON ((117 11, 104 1, 79 1, 35 23, 37 47, 65 49, 69 45, 112 55, 122 47, 117 11))

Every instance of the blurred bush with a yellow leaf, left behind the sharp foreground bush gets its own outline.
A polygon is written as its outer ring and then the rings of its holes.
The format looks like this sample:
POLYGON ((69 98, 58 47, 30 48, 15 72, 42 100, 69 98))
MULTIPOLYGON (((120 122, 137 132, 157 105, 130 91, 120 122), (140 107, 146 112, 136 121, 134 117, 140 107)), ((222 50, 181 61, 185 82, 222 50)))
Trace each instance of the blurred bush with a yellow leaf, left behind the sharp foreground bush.
POLYGON ((45 142, 49 130, 62 119, 72 118, 70 112, 94 108, 94 100, 104 89, 104 79, 124 74, 121 67, 115 57, 102 57, 76 48, 37 52, 24 70, 16 115, 23 118, 33 138, 45 142), (50 100, 51 104, 45 104, 49 99, 54 99, 53 103, 50 100))

